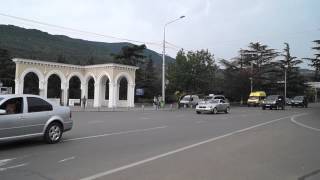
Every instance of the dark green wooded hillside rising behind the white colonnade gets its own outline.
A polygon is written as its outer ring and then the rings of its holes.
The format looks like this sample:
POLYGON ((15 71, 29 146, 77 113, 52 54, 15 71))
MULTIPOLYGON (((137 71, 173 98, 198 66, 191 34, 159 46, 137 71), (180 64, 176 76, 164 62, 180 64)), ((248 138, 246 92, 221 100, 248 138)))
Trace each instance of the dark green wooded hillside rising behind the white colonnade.
MULTIPOLYGON (((51 35, 36 29, 0 25, 0 48, 7 49, 12 57, 57 61, 60 56, 70 64, 87 64, 89 59, 100 64, 112 62, 111 54, 119 53, 121 48, 127 45, 132 44, 86 41, 51 35)), ((146 49, 144 55, 151 56, 156 65, 162 62, 161 56, 150 49, 146 49)), ((171 57, 167 59, 174 60, 171 57)))

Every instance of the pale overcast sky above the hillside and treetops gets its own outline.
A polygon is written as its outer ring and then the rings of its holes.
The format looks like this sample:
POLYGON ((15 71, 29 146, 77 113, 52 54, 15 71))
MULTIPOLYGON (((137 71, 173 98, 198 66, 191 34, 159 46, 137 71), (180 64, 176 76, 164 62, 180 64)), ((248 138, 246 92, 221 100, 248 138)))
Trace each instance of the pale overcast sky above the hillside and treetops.
MULTIPOLYGON (((250 42, 260 41, 292 55, 311 57, 312 41, 320 39, 319 0, 7 0, 0 13, 83 31, 143 42, 162 53, 166 39, 186 50, 208 49, 216 58, 230 59, 250 42)), ((35 28, 51 34, 102 42, 121 40, 84 34, 0 16, 0 24, 35 28)), ((167 52, 175 57, 177 48, 167 52)))

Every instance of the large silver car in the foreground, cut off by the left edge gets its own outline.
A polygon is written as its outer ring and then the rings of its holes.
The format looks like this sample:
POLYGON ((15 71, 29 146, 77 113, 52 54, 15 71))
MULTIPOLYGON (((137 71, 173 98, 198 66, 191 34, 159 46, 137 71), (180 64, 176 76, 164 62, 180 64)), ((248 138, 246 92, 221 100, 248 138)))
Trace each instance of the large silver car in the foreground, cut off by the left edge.
POLYGON ((43 137, 54 144, 72 126, 69 107, 36 95, 0 95, 0 141, 43 137))

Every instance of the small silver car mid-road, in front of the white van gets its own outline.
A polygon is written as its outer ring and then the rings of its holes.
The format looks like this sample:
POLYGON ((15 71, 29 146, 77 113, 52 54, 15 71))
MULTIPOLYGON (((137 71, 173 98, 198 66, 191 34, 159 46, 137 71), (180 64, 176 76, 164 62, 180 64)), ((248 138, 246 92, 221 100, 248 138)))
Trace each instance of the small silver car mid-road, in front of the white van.
POLYGON ((197 114, 203 112, 209 112, 217 114, 218 112, 229 113, 230 112, 230 103, 226 102, 223 99, 211 99, 209 101, 201 102, 196 106, 197 114))

